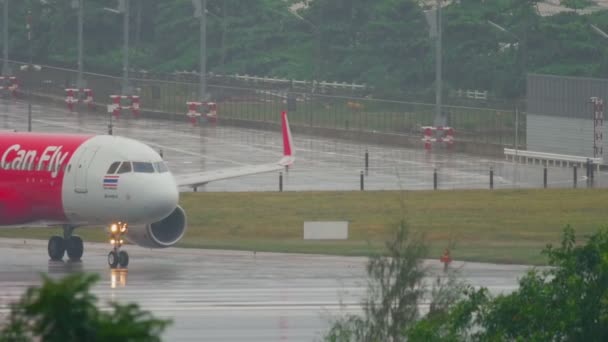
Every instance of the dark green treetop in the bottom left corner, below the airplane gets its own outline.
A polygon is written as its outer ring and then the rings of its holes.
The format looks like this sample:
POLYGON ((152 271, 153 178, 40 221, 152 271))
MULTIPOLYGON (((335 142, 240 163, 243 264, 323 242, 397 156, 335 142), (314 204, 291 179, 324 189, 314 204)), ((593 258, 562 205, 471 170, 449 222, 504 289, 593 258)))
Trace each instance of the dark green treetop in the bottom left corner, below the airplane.
POLYGON ((136 304, 111 303, 101 311, 90 293, 97 275, 74 274, 60 280, 44 277, 11 305, 1 342, 160 341, 169 321, 156 319, 136 304))

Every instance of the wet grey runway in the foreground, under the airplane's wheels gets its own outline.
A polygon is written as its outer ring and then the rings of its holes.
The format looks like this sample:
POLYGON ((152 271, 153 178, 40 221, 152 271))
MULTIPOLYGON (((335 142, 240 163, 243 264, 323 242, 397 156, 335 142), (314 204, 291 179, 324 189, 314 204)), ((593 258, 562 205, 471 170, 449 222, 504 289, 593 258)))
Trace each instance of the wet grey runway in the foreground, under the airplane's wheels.
MULTIPOLYGON (((358 313, 365 258, 128 246, 128 271, 107 268, 106 244, 85 243, 79 264, 49 263, 46 241, 0 239, 0 321, 39 274, 95 272, 99 303, 136 302, 172 318, 167 341, 314 341, 332 318, 358 313)), ((429 261, 432 273, 441 265, 429 261)), ((455 263, 472 285, 493 293, 515 288, 527 269, 455 263)), ((430 280, 429 280, 430 281, 430 280)), ((421 310, 425 310, 422 305, 421 310)))

